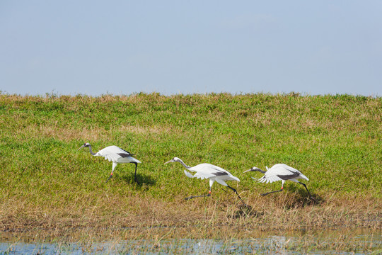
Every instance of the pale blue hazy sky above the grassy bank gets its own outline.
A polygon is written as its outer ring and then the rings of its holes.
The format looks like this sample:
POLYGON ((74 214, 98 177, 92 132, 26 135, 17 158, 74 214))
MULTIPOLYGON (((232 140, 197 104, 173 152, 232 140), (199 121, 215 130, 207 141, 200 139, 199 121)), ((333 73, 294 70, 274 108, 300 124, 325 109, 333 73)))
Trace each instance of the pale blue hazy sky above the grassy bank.
POLYGON ((0 1, 0 91, 382 96, 382 1, 0 1))

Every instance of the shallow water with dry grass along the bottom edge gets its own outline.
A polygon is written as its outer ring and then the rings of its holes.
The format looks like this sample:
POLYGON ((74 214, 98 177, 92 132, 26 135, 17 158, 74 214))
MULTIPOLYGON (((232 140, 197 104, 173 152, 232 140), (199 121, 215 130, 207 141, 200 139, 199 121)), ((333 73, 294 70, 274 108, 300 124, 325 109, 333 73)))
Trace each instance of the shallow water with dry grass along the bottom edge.
MULTIPOLYGON (((0 234, 1 237, 1 234, 0 234)), ((381 254, 381 229, 330 230, 316 232, 253 232, 248 238, 93 238, 66 242, 25 241, 3 233, 0 254, 381 254)))

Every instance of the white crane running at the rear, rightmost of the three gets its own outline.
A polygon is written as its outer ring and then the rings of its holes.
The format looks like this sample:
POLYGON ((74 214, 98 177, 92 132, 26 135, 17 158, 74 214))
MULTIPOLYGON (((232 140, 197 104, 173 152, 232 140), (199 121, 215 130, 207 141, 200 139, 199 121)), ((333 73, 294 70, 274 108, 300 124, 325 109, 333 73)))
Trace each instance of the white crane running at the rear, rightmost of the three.
MULTIPOLYGON (((288 166, 286 164, 275 164, 270 169, 268 169, 268 166, 265 166, 265 167, 267 168, 267 171, 262 171, 260 168, 257 168, 256 166, 253 166, 253 168, 247 171, 244 171, 244 173, 248 171, 260 171, 260 173, 264 174, 264 176, 262 176, 260 179, 255 179, 253 177, 252 178, 262 183, 272 183, 274 181, 282 181, 282 188, 279 191, 271 191, 271 192, 263 193, 261 194, 261 196, 266 196, 270 193, 283 191, 285 181, 294 181, 296 183, 300 183, 305 188, 306 188, 306 185, 304 183, 297 181, 297 179, 304 179, 306 181, 309 181, 308 177, 304 176, 301 173, 301 171, 294 169, 293 167, 288 166)), ((306 188, 306 191, 308 191, 308 188, 306 188)), ((309 197, 311 198, 312 196, 309 191, 308 191, 308 194, 309 194, 309 197)))

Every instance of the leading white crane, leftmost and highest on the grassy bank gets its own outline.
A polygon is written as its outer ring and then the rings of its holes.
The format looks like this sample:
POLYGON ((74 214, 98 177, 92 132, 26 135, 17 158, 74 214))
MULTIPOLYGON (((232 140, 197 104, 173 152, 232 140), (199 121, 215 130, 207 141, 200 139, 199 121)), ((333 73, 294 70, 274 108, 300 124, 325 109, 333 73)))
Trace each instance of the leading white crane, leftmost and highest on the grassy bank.
MULTIPOLYGON (((141 162, 138 159, 134 159, 132 157, 134 156, 134 154, 131 154, 130 152, 125 151, 125 149, 121 149, 120 147, 117 147, 115 145, 105 147, 104 149, 101 149, 97 153, 94 153, 91 150, 91 145, 88 142, 84 143, 79 149, 82 149, 83 147, 89 147, 89 151, 93 156, 105 157, 105 159, 108 159, 110 162, 112 162, 112 172, 114 171, 115 166, 117 166, 117 164, 120 164, 120 163, 135 164, 134 180, 137 183, 139 183, 137 181, 137 165, 138 163, 141 163, 141 162)), ((110 174, 110 177, 106 182, 108 182, 110 178, 112 178, 112 173, 110 174)))

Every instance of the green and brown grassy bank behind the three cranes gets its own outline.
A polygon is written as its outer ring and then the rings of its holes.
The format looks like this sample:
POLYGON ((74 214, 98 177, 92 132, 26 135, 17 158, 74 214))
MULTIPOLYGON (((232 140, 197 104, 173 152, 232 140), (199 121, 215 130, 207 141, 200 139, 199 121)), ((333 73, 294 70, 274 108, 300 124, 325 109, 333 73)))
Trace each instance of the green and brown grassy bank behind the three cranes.
POLYGON ((0 227, 253 225, 380 227, 382 99, 364 96, 16 96, 0 94, 0 227), (111 163, 84 149, 136 154, 105 183, 111 163), (216 164, 241 179, 231 190, 188 179, 173 157, 216 164), (243 171, 285 163, 303 186, 255 183, 243 171))

